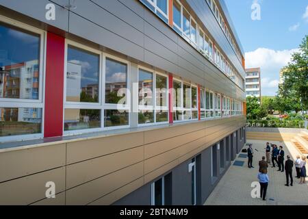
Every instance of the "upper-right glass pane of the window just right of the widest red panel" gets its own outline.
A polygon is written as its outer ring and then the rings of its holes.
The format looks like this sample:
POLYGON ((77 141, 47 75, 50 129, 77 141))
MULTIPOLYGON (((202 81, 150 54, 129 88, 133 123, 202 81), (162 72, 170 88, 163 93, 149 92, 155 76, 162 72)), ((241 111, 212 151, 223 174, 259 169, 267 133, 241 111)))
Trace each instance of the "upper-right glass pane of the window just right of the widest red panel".
POLYGON ((106 58, 105 103, 127 103, 127 64, 106 58))

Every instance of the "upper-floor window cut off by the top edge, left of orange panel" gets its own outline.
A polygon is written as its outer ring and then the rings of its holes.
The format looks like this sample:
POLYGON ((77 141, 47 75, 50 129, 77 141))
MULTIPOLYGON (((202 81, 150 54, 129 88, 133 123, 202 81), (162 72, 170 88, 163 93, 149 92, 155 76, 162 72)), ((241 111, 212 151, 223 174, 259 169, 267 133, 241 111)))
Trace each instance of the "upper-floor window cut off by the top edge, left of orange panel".
POLYGON ((140 0, 146 7, 168 23, 168 1, 167 0, 140 0))

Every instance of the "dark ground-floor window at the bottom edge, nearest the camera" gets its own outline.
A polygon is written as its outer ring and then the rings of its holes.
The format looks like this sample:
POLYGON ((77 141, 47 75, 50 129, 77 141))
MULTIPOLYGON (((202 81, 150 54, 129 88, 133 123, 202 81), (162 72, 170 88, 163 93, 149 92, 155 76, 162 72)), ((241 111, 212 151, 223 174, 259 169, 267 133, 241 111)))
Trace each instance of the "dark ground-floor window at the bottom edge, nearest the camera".
POLYGON ((151 184, 151 205, 172 205, 172 174, 151 184))

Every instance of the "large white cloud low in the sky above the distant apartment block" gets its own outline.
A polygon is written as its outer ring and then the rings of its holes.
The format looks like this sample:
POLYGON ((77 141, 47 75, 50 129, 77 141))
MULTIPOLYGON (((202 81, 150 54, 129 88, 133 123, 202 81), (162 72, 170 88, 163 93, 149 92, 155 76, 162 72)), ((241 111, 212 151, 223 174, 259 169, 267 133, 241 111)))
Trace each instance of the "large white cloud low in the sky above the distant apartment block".
POLYGON ((259 48, 245 53, 246 68, 261 68, 261 94, 273 96, 278 90, 279 72, 298 49, 274 51, 259 48))

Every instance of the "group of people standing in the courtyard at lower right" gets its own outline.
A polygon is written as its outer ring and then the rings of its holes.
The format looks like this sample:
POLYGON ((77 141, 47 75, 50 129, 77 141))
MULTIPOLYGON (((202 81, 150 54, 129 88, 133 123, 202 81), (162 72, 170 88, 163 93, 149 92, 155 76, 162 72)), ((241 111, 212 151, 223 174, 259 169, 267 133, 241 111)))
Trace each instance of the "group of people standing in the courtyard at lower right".
MULTIPOLYGON (((248 150, 248 168, 253 167, 253 148, 250 145, 248 150)), ((287 179, 287 183, 285 186, 293 186, 293 177, 292 170, 295 164, 296 168, 296 178, 300 179, 300 184, 305 183, 306 175, 306 157, 298 155, 296 157, 295 163, 290 159, 290 155, 287 155, 287 160, 285 159, 285 151, 283 151, 283 146, 279 146, 277 148, 276 144, 270 145, 269 142, 266 143, 266 156, 262 157, 262 160, 259 161, 259 173, 258 179, 261 187, 260 196, 265 201, 266 200, 266 190, 268 188, 268 183, 270 181, 268 177, 268 165, 272 162, 272 168, 275 168, 277 164, 278 170, 280 172, 285 172, 285 177, 287 179), (272 146, 272 149, 271 149, 272 146), (271 157, 271 159, 270 159, 271 157), (290 184, 289 184, 290 183, 290 184)))

